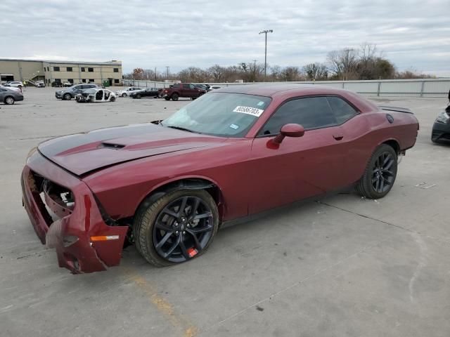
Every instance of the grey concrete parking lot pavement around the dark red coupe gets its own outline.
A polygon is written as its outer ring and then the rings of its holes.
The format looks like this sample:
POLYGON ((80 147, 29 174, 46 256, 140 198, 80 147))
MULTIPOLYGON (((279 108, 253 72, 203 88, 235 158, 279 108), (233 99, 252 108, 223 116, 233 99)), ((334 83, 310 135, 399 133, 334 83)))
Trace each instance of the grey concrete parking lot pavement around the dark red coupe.
POLYGON ((188 99, 0 104, 1 336, 450 336, 450 146, 431 143, 446 98, 409 107, 416 146, 384 199, 354 192, 221 230, 202 257, 148 265, 133 246, 107 272, 70 275, 22 207, 27 152, 54 136, 162 119, 188 99))

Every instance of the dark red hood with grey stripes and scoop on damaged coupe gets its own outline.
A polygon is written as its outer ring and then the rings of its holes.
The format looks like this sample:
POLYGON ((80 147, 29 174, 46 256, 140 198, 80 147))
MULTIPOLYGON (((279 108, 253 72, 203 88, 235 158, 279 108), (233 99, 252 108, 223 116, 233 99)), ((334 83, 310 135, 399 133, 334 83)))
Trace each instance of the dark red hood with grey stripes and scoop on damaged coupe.
POLYGON ((53 138, 38 150, 63 169, 82 176, 126 161, 219 145, 224 140, 148 123, 53 138))

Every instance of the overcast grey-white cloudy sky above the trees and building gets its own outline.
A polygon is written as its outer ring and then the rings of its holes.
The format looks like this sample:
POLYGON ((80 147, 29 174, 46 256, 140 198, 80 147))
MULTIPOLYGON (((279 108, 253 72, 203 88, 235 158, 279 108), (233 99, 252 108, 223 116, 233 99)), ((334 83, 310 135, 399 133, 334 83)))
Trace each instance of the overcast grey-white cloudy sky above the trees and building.
POLYGON ((1 0, 0 58, 184 67, 324 62, 376 44, 398 70, 450 77, 450 0, 1 0))

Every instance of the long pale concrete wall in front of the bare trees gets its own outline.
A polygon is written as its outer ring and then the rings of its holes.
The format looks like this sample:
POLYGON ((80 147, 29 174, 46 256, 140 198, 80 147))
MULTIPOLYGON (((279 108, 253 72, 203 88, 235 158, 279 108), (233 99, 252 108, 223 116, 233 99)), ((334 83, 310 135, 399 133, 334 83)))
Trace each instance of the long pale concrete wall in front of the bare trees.
MULTIPOLYGON (((259 83, 211 83, 216 86, 251 86, 253 84, 312 84, 344 88, 364 95, 446 97, 450 90, 449 79, 386 79, 373 81, 302 81, 302 82, 259 82, 259 83)), ((124 86, 167 88, 172 82, 124 80, 124 86)))

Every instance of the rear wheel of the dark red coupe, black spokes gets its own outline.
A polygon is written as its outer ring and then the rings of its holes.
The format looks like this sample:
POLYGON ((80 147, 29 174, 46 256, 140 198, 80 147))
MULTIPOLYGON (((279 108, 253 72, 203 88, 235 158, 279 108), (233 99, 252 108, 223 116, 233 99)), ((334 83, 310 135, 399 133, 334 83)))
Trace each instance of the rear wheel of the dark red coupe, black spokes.
POLYGON ((356 190, 368 199, 380 199, 390 192, 396 177, 397 152, 382 144, 373 152, 356 190))

